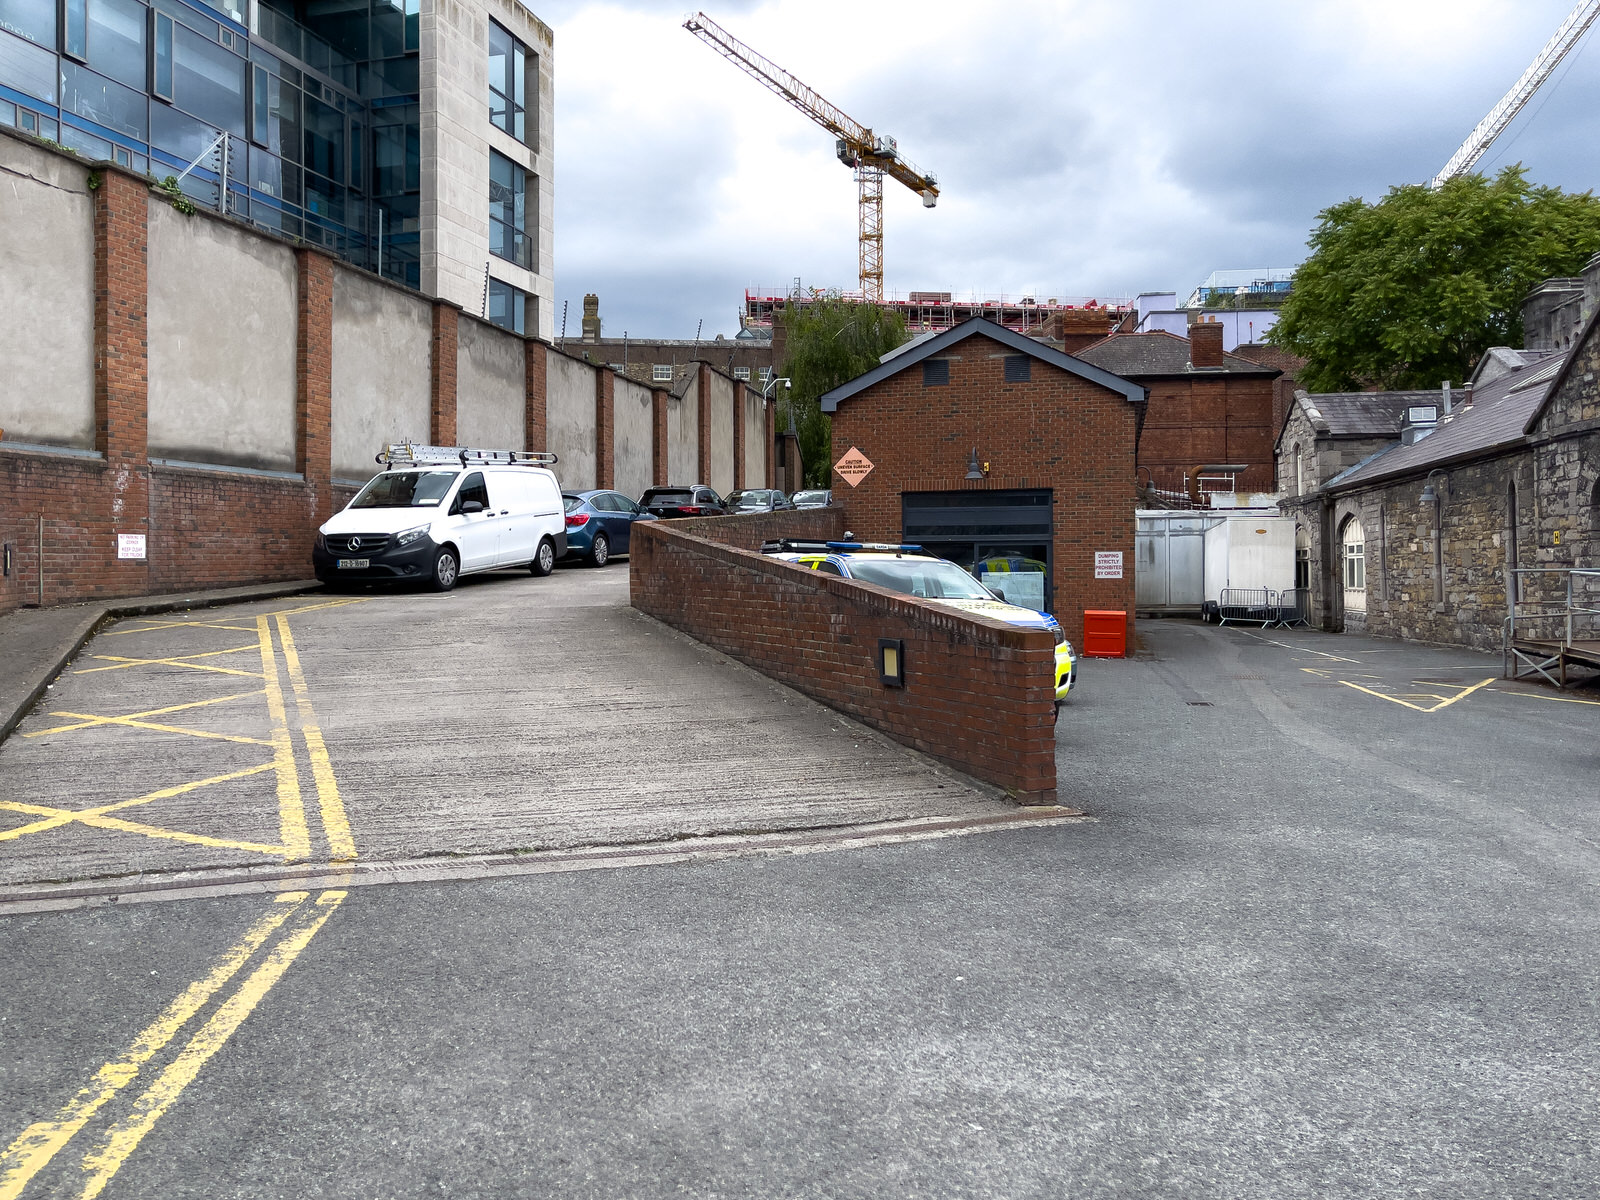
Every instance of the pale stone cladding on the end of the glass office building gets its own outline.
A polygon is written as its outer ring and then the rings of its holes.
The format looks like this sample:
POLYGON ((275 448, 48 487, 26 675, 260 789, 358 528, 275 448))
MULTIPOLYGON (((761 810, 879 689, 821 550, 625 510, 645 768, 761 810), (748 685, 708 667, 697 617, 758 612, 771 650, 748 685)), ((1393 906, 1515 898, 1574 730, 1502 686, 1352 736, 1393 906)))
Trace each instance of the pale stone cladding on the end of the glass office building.
POLYGON ((518 0, 422 0, 421 150, 422 291, 485 315, 485 269, 528 293, 528 333, 555 334, 554 34, 518 0), (488 35, 494 19, 536 56, 525 146, 490 123, 488 35), (490 149, 522 165, 528 181, 533 270, 490 254, 490 149))

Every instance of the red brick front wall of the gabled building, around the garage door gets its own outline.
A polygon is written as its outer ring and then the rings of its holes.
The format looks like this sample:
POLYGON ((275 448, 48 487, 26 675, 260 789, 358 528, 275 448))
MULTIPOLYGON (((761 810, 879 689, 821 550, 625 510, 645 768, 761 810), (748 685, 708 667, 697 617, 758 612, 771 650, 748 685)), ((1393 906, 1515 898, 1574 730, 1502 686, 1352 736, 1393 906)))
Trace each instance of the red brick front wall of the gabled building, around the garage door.
POLYGON ((901 539, 902 491, 1050 488, 1051 611, 1075 643, 1083 610, 1128 614, 1133 645, 1134 406, 1118 392, 1034 362, 1032 381, 1005 382, 1003 355, 984 336, 950 347, 947 387, 923 387, 914 365, 845 400, 834 413, 834 461, 851 446, 872 472, 851 488, 834 475, 834 501, 862 541, 901 539), (990 464, 965 480, 973 446, 990 464), (1094 578, 1094 552, 1122 550, 1122 579, 1094 578))

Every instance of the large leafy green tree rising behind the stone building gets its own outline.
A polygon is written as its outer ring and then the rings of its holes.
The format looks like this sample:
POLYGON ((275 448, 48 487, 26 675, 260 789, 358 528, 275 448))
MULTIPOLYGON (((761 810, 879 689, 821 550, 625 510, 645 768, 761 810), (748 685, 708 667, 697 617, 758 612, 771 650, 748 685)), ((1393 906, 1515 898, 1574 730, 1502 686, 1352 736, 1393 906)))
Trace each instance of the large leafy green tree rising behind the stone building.
POLYGON ((1534 283, 1600 250, 1600 200, 1536 187, 1523 168, 1437 192, 1390 189, 1325 210, 1269 341, 1306 358, 1312 392, 1464 382, 1491 346, 1522 346, 1534 283))

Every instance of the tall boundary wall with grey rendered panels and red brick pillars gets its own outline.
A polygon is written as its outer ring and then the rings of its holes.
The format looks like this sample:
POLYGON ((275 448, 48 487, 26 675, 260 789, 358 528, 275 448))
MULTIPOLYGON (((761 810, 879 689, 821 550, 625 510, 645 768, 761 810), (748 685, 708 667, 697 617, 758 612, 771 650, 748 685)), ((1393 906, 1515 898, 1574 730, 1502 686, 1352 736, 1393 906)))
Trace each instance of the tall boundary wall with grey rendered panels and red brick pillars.
POLYGON ((709 384, 685 405, 5 130, 0 174, 0 613, 304 579, 400 437, 554 450, 565 486, 635 498, 704 461, 709 384))

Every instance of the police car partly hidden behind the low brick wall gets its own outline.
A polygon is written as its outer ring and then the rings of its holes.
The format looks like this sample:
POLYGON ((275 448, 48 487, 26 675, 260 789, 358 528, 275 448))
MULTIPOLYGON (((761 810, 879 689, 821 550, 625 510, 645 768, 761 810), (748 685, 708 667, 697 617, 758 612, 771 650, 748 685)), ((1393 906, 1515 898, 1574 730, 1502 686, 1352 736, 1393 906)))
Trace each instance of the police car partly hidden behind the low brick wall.
POLYGON ((1077 654, 1050 613, 1008 605, 987 587, 946 558, 936 558, 920 546, 885 546, 880 542, 803 542, 776 541, 762 546, 763 554, 784 562, 810 566, 824 574, 859 579, 920 600, 933 600, 963 613, 1005 621, 1022 629, 1048 629, 1056 637, 1056 709, 1077 683, 1077 654))

